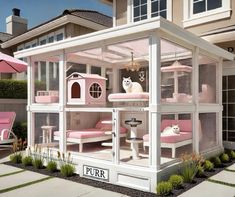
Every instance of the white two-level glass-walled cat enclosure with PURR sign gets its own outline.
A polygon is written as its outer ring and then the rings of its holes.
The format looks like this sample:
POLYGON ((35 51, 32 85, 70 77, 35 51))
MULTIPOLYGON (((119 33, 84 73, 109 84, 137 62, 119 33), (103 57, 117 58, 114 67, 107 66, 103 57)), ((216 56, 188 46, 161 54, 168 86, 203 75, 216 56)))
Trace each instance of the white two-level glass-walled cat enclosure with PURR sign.
POLYGON ((15 56, 27 58, 30 65, 28 147, 39 143, 42 152, 44 147, 45 150, 50 147, 50 155, 55 157, 57 151, 71 153, 80 176, 155 192, 162 177, 178 170, 179 155, 186 151, 213 155, 223 149, 222 60, 232 60, 234 55, 169 21, 157 17, 130 23, 18 51, 15 56), (138 61, 146 72, 146 80, 141 84, 143 93, 122 93, 123 77, 141 82, 138 81, 140 70, 127 71, 123 67, 131 59, 131 52, 133 61, 138 61), (49 69, 45 70, 50 72, 53 57, 58 59, 58 77, 53 81, 58 88, 53 90, 58 91, 59 101, 36 103, 37 61, 49 62, 49 69), (175 70, 164 72, 175 61, 187 66, 184 72, 177 70, 175 75, 175 70), (71 64, 74 73, 67 75, 71 64), (82 74, 81 70, 86 73, 82 74), (105 80, 107 72, 112 73, 112 80, 105 80), (99 76, 93 75, 97 73, 99 76), (178 81, 174 82, 174 77, 178 81), (205 91, 210 92, 211 98, 201 100, 205 91), (171 102, 174 93, 178 98, 171 102), (118 102, 114 105, 110 95, 118 101, 121 99, 123 105, 118 102), (129 105, 142 100, 147 105, 129 105), (142 122, 134 137, 148 137, 142 142, 149 150, 144 152, 141 142, 139 158, 131 158, 136 146, 133 151, 130 143, 126 143, 133 135, 130 136, 130 126, 125 121, 132 118, 142 122), (173 136, 163 140, 161 131, 173 123, 180 127, 181 141, 173 136), (43 125, 55 126, 52 141, 47 144, 40 139, 43 125), (103 146, 101 140, 107 139, 111 140, 110 146, 103 146), (79 152, 79 143, 83 142, 83 150, 79 152), (94 171, 100 173, 91 173, 94 171))

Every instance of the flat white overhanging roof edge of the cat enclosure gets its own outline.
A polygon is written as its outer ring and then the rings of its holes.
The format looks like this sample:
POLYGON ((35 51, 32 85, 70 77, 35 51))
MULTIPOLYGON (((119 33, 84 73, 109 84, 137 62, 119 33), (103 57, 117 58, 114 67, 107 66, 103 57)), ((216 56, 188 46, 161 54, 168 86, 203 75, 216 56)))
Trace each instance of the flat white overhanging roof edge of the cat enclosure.
POLYGON ((88 49, 92 47, 103 46, 105 44, 111 44, 120 38, 130 40, 132 35, 139 35, 140 37, 148 37, 151 33, 158 30, 170 35, 173 38, 177 38, 182 42, 186 42, 192 47, 197 46, 200 49, 208 51, 212 54, 222 57, 224 59, 233 60, 234 55, 225 51, 202 38, 194 35, 193 33, 182 29, 181 27, 161 18, 156 17, 149 20, 143 20, 131 24, 126 24, 118 27, 113 27, 86 35, 68 38, 59 42, 37 46, 22 51, 15 52, 16 58, 30 57, 40 54, 59 53, 62 50, 67 52, 88 49))

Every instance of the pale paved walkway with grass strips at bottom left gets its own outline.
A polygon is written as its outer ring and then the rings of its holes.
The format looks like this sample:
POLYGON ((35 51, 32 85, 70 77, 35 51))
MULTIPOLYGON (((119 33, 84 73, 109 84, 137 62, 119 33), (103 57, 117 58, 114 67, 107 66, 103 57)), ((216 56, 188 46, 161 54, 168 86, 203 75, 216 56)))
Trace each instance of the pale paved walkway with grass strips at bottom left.
POLYGON ((1 164, 7 159, 0 159, 0 197, 125 197, 89 185, 49 177, 39 173, 1 164))

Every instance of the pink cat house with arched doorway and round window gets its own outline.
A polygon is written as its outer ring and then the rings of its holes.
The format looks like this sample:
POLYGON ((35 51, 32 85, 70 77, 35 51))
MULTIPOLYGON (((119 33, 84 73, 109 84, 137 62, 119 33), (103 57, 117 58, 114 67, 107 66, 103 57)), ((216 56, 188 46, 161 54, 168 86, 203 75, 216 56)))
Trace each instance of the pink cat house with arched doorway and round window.
POLYGON ((104 105, 106 103, 106 78, 96 74, 75 72, 67 80, 69 105, 104 105))

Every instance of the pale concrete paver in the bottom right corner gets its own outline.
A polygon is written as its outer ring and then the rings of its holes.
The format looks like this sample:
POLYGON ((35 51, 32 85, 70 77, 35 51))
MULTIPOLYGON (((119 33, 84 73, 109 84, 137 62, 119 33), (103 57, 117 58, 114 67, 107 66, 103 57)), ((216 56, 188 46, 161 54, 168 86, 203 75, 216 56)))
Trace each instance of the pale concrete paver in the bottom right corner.
POLYGON ((235 188, 217 183, 211 183, 209 181, 204 181, 180 195, 180 197, 199 197, 199 196, 234 197, 235 188))

